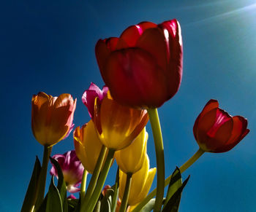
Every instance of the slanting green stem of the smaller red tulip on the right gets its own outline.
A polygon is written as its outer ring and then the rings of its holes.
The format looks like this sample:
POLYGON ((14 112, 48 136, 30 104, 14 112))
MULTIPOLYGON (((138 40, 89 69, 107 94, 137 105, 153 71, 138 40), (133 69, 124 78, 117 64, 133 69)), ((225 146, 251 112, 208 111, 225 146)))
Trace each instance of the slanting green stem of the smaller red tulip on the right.
MULTIPOLYGON (((191 166, 200 156, 202 156, 203 153, 204 151, 199 148, 197 152, 195 152, 195 154, 192 157, 190 157, 189 160, 187 160, 187 162, 184 163, 184 165, 181 165, 181 168, 179 169, 181 173, 187 170, 187 168, 189 168, 189 166, 191 166)), ((171 177, 172 175, 168 176, 165 179, 165 187, 167 187, 167 185, 170 184, 171 177)), ((136 206, 135 209, 133 209, 132 212, 140 211, 144 207, 144 205, 146 205, 146 203, 148 203, 148 201, 151 200, 156 195, 156 193, 157 193, 157 189, 154 189, 149 195, 145 197, 145 199, 142 202, 140 202, 140 204, 136 206)))

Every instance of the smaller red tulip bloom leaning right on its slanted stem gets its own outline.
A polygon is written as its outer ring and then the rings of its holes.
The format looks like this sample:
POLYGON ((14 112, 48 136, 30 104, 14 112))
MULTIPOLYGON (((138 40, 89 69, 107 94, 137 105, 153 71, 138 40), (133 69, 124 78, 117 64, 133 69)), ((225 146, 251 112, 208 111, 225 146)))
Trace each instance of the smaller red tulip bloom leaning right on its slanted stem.
POLYGON ((249 133, 247 119, 231 117, 212 99, 195 120, 193 131, 197 144, 205 152, 227 152, 249 133))

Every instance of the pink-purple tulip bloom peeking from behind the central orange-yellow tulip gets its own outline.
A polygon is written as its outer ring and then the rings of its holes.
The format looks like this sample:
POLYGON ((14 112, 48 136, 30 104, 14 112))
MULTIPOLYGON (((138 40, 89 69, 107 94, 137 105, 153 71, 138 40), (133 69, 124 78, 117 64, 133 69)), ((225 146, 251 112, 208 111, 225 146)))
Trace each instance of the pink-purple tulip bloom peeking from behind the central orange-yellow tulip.
POLYGON ((102 102, 102 99, 105 97, 105 95, 107 95, 107 93, 108 87, 104 86, 102 90, 100 90, 99 87, 97 87, 97 85, 95 85, 93 82, 91 82, 89 89, 83 93, 82 101, 87 107, 91 119, 94 118, 95 98, 99 98, 99 102, 102 102))

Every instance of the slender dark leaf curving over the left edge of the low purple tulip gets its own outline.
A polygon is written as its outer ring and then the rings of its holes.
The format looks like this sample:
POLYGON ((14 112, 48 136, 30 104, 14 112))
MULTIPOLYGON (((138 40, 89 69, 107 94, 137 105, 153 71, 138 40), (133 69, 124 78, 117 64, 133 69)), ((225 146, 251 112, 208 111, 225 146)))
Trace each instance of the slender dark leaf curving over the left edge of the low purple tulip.
POLYGON ((59 165, 59 162, 57 160, 53 159, 53 157, 50 157, 50 162, 52 162, 53 165, 55 166, 55 168, 57 169, 57 172, 58 172, 58 185, 57 185, 57 188, 58 188, 59 194, 61 196, 61 203, 63 205, 63 211, 67 212, 68 211, 67 187, 66 187, 66 183, 64 181, 64 176, 63 176, 61 167, 59 165))

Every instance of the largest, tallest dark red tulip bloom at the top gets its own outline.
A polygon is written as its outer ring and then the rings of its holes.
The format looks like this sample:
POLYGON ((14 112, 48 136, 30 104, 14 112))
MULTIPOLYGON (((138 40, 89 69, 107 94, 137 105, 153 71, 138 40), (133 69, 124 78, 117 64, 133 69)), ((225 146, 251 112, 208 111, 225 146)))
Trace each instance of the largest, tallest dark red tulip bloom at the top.
POLYGON ((102 78, 118 103, 156 108, 181 84, 181 28, 175 19, 129 26, 119 38, 99 39, 95 52, 102 78))

